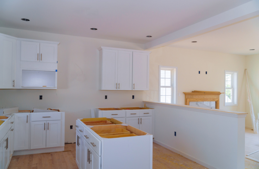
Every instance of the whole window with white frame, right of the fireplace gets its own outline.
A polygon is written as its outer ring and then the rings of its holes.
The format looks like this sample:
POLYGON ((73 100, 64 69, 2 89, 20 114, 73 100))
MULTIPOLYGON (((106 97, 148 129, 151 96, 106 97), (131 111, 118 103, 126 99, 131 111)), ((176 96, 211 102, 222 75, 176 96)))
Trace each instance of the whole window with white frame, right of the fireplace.
POLYGON ((237 71, 225 71, 225 106, 237 106, 237 71))

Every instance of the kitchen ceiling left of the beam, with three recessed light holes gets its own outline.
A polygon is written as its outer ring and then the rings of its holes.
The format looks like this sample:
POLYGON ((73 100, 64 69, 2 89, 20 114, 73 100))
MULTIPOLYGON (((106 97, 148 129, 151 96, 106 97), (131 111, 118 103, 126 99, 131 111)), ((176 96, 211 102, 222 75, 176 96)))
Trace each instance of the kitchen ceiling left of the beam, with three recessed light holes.
POLYGON ((0 27, 143 44, 249 1, 2 0, 0 27))

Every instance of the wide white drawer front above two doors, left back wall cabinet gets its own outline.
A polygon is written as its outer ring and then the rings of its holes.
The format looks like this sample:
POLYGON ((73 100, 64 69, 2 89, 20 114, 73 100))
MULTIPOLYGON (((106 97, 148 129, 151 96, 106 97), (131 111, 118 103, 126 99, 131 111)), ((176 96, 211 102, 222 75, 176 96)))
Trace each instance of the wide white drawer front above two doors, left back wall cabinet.
POLYGON ((31 113, 31 121, 61 120, 61 112, 31 113))

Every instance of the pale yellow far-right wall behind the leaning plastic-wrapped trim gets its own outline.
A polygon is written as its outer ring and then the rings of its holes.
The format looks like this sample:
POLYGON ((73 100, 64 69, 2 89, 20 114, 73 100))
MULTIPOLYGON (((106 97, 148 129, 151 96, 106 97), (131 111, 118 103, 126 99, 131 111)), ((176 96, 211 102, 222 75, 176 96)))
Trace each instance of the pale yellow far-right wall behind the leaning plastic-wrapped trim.
MULTIPOLYGON (((259 54, 246 56, 246 68, 255 118, 257 119, 257 113, 259 113, 259 54)), ((247 98, 248 95, 246 88, 245 104, 246 112, 248 113, 246 116, 246 126, 253 128, 250 116, 250 106, 247 98)))

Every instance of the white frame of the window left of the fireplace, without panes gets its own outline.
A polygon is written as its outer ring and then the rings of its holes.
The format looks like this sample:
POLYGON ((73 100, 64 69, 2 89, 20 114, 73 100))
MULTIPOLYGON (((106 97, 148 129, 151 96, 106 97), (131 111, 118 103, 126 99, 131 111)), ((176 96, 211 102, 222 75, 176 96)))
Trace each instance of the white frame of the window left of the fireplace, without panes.
POLYGON ((177 104, 177 69, 178 67, 176 66, 161 66, 159 65, 159 102, 160 102, 160 90, 161 87, 168 87, 168 86, 161 86, 161 69, 162 70, 173 70, 171 71, 171 103, 177 104))

